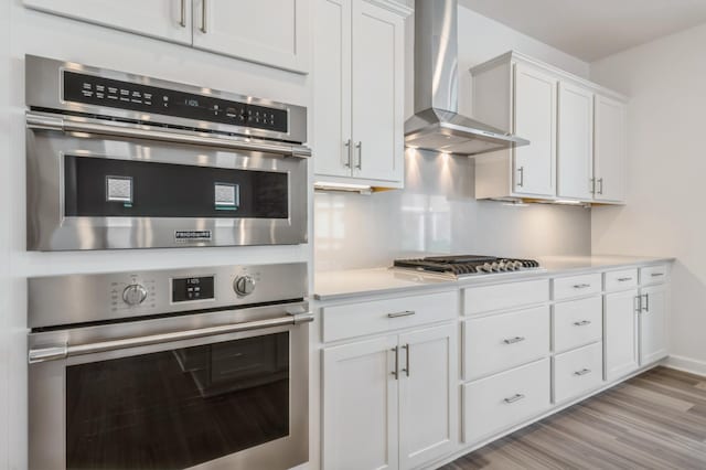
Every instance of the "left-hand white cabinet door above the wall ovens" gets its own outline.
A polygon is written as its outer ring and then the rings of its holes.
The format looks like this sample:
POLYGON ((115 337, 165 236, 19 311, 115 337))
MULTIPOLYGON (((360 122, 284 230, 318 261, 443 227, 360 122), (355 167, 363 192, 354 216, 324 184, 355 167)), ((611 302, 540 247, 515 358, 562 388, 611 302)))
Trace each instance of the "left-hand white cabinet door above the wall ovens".
POLYGON ((192 0, 24 0, 29 8, 191 44, 192 0))

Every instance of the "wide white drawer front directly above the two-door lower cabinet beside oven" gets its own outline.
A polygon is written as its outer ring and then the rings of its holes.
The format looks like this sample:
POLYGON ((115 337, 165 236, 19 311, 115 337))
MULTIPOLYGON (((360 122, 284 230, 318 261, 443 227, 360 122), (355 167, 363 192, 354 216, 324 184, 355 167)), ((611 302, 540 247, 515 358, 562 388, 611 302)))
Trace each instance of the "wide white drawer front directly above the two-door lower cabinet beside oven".
POLYGON ((338 341, 457 317, 456 291, 324 307, 323 341, 338 341))

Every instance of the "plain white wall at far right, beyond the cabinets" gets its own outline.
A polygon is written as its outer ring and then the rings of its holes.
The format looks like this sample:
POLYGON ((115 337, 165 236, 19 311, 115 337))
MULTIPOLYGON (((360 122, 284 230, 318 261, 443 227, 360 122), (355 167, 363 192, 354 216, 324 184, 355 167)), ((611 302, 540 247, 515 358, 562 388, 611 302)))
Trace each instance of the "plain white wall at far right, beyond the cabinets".
POLYGON ((593 253, 675 256, 672 354, 706 373, 706 24, 591 64, 631 97, 627 205, 595 209, 593 253))

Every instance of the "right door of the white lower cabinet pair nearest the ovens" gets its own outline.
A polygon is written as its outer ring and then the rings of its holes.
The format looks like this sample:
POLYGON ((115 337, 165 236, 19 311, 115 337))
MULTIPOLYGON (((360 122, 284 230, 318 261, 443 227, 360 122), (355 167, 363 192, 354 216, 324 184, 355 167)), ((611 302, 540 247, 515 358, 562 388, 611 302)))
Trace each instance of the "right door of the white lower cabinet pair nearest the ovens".
POLYGON ((399 337, 399 467, 418 468, 458 444, 457 330, 449 324, 399 337))

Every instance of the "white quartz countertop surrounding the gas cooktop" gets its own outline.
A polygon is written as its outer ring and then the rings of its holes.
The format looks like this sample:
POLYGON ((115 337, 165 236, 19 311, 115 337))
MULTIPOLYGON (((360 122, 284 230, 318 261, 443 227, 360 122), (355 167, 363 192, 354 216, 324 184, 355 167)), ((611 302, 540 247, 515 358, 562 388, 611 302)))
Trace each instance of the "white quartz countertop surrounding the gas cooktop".
POLYGON ((329 301, 360 296, 397 293, 408 291, 457 289, 467 285, 515 280, 537 276, 556 276, 596 269, 616 269, 639 265, 670 263, 674 258, 634 256, 553 256, 537 258, 544 269, 495 275, 471 276, 451 279, 422 273, 391 269, 347 269, 340 271, 318 271, 314 275, 314 299, 329 301))

